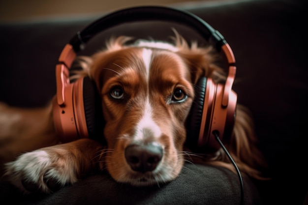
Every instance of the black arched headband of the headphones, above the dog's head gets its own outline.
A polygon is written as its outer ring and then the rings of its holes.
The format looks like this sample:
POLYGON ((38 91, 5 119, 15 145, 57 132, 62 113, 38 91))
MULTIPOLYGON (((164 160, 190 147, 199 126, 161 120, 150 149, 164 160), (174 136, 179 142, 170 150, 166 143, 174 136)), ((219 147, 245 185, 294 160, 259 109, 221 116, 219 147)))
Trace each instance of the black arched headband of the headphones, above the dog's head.
POLYGON ((83 29, 70 40, 77 53, 85 48, 85 44, 97 33, 124 23, 140 21, 170 21, 189 26, 198 31, 217 51, 221 50, 222 45, 226 44, 224 37, 208 23, 198 16, 169 7, 160 6, 140 6, 123 9, 103 16, 88 27, 83 29))

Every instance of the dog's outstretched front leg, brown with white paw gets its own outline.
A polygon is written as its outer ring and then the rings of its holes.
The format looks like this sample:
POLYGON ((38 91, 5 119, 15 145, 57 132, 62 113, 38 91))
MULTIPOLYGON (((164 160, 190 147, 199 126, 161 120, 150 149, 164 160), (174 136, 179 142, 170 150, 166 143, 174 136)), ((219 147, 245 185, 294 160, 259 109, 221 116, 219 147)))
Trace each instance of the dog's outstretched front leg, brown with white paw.
POLYGON ((90 139, 41 148, 6 163, 4 176, 25 193, 50 193, 99 170, 102 149, 90 139))

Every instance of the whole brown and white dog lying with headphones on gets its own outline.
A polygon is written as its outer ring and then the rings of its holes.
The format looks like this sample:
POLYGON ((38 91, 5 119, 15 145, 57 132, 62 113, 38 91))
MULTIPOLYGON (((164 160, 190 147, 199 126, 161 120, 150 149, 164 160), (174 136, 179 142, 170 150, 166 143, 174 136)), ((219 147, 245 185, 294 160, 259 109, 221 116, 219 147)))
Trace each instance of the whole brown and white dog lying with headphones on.
MULTIPOLYGON (((132 185, 173 180, 186 160, 234 171, 223 150, 198 155, 185 147, 197 80, 202 75, 216 81, 225 77, 212 47, 189 46, 175 33, 174 44, 143 40, 126 45, 131 38, 112 38, 105 50, 79 58, 83 70, 74 78, 89 76, 100 91, 101 137, 107 146, 91 139, 59 142, 51 104, 34 110, 0 104, 0 157, 10 161, 5 176, 26 193, 50 193, 104 169, 116 181, 132 185)), ((261 177, 253 123, 241 105, 225 146, 243 173, 261 177)))

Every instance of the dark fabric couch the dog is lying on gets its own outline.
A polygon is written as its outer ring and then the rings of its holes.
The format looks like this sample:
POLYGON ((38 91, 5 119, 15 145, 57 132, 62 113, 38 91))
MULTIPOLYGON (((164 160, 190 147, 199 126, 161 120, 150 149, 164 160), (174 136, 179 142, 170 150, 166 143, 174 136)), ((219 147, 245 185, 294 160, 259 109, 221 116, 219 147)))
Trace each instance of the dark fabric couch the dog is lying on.
MULTIPOLYGON (((268 163, 263 171, 271 177, 258 181, 243 176, 244 204, 307 204, 307 1, 222 0, 174 6, 217 29, 235 54, 233 89, 238 102, 252 112, 258 145, 268 163)), ((25 108, 46 105, 56 93, 55 65, 63 46, 99 17, 1 22, 0 101, 25 108)), ((186 38, 202 41, 187 28, 178 30, 186 38)), ((119 34, 164 39, 172 31, 162 22, 123 25, 99 34, 81 55, 91 54, 108 36, 119 34)), ((236 174, 189 163, 174 181, 152 187, 131 187, 101 173, 52 195, 24 196, 0 180, 3 205, 239 205, 240 197, 236 174)))

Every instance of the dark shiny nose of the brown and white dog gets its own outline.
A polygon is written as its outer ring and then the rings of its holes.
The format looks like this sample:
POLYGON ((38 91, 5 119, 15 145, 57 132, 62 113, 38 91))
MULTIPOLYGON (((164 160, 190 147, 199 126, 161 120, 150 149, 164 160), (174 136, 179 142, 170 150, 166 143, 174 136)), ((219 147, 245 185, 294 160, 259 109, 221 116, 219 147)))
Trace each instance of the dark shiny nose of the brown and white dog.
POLYGON ((136 172, 153 171, 163 156, 162 147, 158 143, 146 145, 129 145, 125 149, 125 158, 132 170, 136 172))

